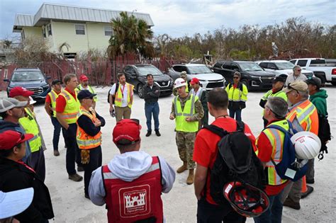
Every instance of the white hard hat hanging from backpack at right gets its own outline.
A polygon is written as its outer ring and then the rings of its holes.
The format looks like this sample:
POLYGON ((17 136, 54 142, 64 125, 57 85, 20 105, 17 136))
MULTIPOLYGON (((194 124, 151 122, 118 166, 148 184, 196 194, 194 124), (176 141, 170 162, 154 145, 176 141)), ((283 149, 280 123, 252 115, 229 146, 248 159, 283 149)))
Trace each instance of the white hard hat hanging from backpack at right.
POLYGON ((321 140, 313 132, 298 132, 291 137, 298 159, 313 159, 321 149, 321 140))

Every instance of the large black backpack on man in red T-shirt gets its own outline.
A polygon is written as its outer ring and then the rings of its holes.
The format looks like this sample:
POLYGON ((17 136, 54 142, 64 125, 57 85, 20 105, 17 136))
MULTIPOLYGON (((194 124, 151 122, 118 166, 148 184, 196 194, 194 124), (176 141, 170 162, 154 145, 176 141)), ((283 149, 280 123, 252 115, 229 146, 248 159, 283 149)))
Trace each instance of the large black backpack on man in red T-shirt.
POLYGON ((237 130, 227 132, 215 125, 204 128, 222 137, 218 142, 218 154, 210 169, 210 194, 218 205, 228 205, 223 187, 231 181, 249 183, 261 190, 266 178, 264 168, 254 153, 250 139, 244 133, 244 122, 237 121, 237 130))

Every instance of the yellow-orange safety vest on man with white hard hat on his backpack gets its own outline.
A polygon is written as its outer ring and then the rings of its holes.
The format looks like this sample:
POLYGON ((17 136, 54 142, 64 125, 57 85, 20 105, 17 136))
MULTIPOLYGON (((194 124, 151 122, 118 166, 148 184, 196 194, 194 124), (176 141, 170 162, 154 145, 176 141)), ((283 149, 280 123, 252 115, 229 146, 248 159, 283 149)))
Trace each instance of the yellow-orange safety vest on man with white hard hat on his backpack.
MULTIPOLYGON (((279 127, 284 128, 284 130, 289 130, 289 123, 287 120, 279 120, 276 122, 272 122, 271 125, 277 125, 279 127)), ((272 152, 271 152, 271 159, 273 159, 275 164, 279 164, 282 160, 282 151, 284 145, 284 132, 276 130, 274 128, 267 128, 262 130, 264 134, 269 139, 271 143, 272 152)), ((256 141, 258 144, 258 139, 256 141)), ((281 185, 286 183, 287 180, 281 179, 281 177, 276 173, 276 169, 272 161, 268 161, 266 164, 266 172, 267 172, 267 179, 268 185, 281 185)))

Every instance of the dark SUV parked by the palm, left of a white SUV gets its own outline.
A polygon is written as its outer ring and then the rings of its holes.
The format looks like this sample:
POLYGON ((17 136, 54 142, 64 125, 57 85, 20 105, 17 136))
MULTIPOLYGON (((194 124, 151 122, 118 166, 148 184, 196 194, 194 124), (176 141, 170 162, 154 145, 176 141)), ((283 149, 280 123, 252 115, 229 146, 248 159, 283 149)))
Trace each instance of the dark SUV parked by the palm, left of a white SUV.
POLYGON ((154 82, 159 86, 160 95, 171 95, 174 81, 167 74, 163 74, 159 69, 150 64, 126 65, 123 69, 126 81, 134 85, 138 96, 142 96, 142 87, 147 83, 147 74, 152 74, 154 82))

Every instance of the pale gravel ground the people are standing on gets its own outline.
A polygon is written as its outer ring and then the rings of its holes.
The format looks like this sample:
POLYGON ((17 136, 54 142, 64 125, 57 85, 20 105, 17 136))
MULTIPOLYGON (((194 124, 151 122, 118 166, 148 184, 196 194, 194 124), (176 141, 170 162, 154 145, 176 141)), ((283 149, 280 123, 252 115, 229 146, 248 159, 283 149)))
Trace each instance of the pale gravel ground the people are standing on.
MULTIPOLYGON (((336 87, 328 85, 326 88, 328 111, 332 132, 336 134, 336 87)), ((108 88, 96 88, 99 96, 96 110, 106 119, 103 132, 103 164, 106 164, 113 155, 118 154, 118 149, 113 144, 111 132, 116 120, 108 113, 106 95, 108 88)), ((242 119, 250 125, 257 137, 262 130, 262 108, 259 100, 264 92, 252 92, 248 95, 247 108, 242 112, 242 119)), ((4 91, 0 93, 5 97, 4 91)), ((142 123, 142 150, 152 155, 160 155, 174 168, 181 165, 177 147, 175 144, 174 121, 169 120, 172 96, 159 99, 160 105, 160 131, 162 137, 151 135, 145 137, 147 127, 145 125, 144 101, 135 96, 132 118, 140 119, 142 123)), ((53 127, 47 117, 43 105, 35 106, 35 113, 40 123, 47 151, 45 151, 45 163, 47 176, 45 183, 50 189, 52 204, 55 211, 54 222, 107 222, 105 207, 98 207, 84 198, 84 182, 75 183, 67 179, 65 169, 64 141, 60 139, 60 156, 52 155, 53 127)), ((211 118, 211 121, 213 118, 211 118)), ((314 192, 301 200, 301 210, 291 210, 284 207, 284 222, 335 222, 336 216, 336 139, 329 144, 330 152, 323 161, 315 161, 314 192)), ((79 173, 83 175, 83 173, 79 173)), ((177 174, 172 191, 162 195, 164 202, 164 215, 167 222, 196 222, 196 198, 194 185, 186 185, 187 173, 177 174)), ((253 222, 248 219, 248 222, 253 222)))

